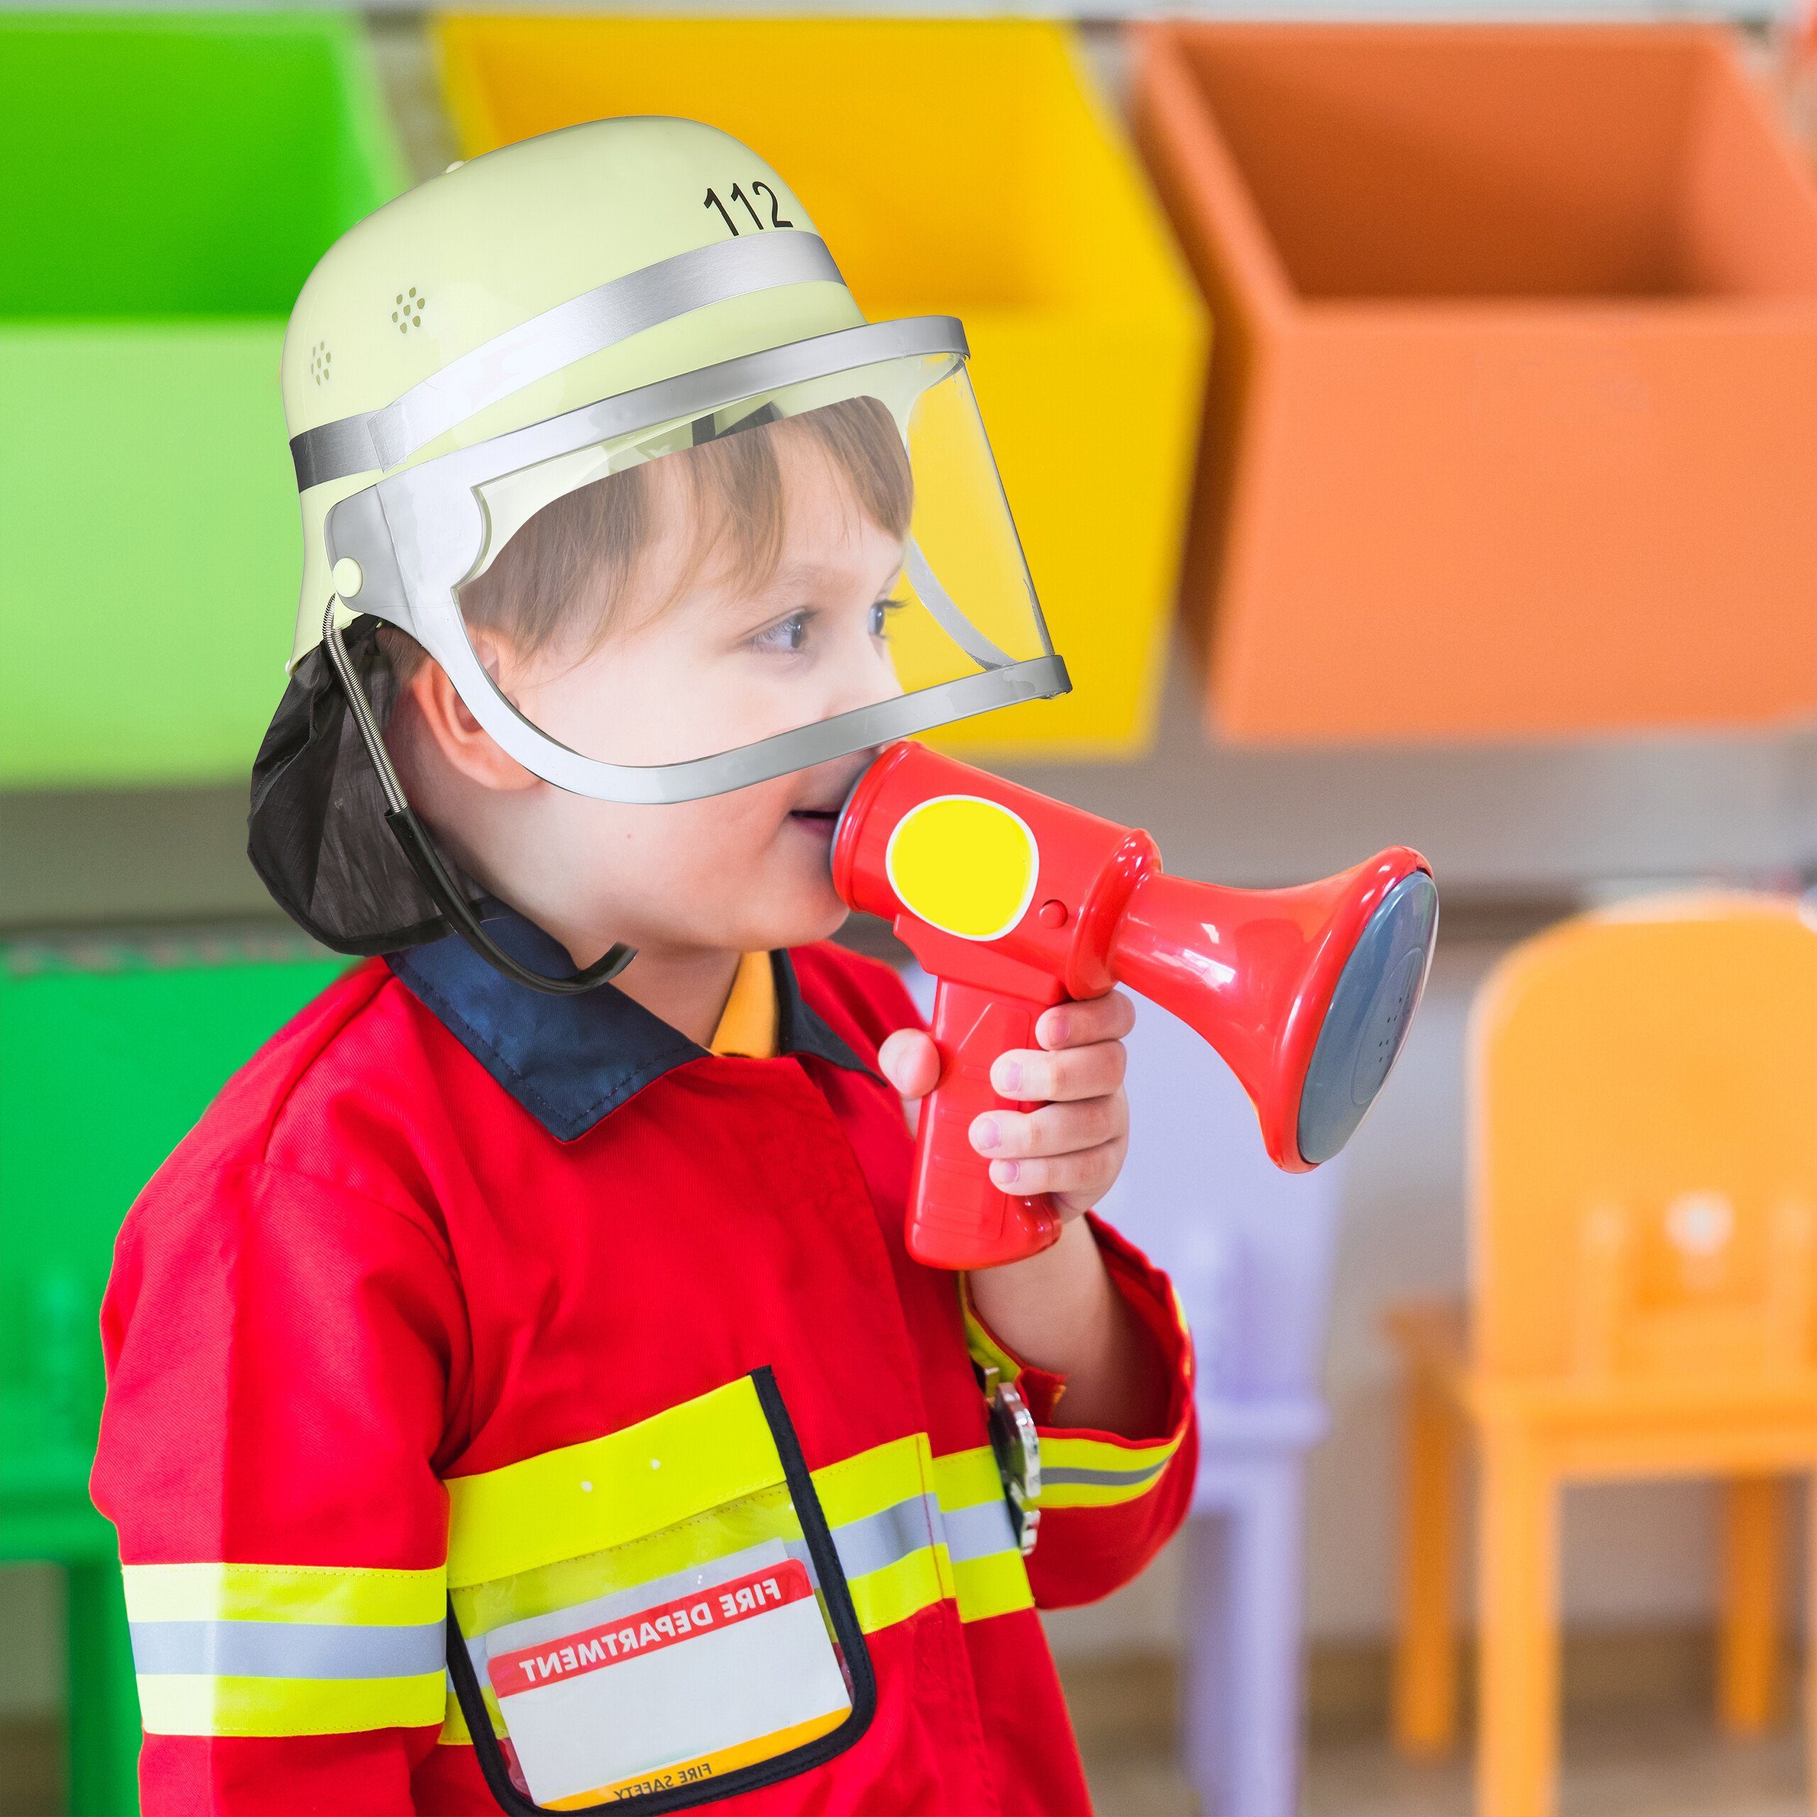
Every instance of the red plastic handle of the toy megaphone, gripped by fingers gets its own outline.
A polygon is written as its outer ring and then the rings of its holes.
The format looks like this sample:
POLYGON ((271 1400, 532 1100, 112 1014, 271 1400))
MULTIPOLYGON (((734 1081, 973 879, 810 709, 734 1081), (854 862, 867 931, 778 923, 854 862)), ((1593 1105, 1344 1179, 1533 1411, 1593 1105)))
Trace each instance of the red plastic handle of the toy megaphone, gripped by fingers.
POLYGON ((1059 1236, 1059 1214, 1047 1194, 999 1192, 990 1161, 972 1147, 972 1123, 985 1110, 1034 1108, 998 1096, 990 1063, 1012 1047, 1034 1047, 1034 1023, 1045 1008, 939 979, 939 1085, 921 1101, 908 1179, 908 1254, 930 1268, 994 1268, 1034 1256, 1059 1236))

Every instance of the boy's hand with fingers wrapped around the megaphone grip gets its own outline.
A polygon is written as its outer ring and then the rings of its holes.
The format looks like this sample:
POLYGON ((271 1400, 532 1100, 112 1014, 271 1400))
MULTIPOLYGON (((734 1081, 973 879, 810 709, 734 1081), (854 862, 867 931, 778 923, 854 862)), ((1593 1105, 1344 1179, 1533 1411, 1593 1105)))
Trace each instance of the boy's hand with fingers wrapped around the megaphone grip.
MULTIPOLYGON (((1003 1192, 1050 1192, 1063 1219, 1088 1212, 1108 1190, 1128 1148, 1123 1036, 1136 1010, 1121 990, 1088 1003, 1056 1003, 1034 1025, 1039 1048, 999 1054, 990 1083, 1039 1110, 987 1110, 972 1147, 990 1161, 1003 1192)), ((939 1050, 919 1028, 898 1028, 881 1048, 883 1077, 903 1097, 925 1097, 939 1081, 939 1050)))

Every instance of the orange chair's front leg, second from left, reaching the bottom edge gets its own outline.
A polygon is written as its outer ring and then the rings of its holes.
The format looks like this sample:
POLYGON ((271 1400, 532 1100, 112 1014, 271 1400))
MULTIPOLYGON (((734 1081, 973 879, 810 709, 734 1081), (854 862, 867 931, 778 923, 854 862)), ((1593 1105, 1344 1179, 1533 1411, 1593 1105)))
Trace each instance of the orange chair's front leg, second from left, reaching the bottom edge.
POLYGON ((1557 1484, 1519 1434, 1484 1434, 1479 1526, 1477 1817, 1554 1817, 1557 1484))

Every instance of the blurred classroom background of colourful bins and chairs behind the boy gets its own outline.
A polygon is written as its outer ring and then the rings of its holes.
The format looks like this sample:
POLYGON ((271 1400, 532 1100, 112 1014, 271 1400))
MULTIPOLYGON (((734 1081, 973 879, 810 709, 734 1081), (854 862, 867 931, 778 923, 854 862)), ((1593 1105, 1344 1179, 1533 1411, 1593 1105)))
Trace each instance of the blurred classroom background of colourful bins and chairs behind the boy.
POLYGON ((400 187, 618 113, 752 144, 867 314, 965 320, 1077 687, 950 749, 1179 874, 1441 883, 1319 1174, 1143 1012, 1110 1214, 1206 1470, 1048 1619, 1099 1808, 1808 1808, 1812 58, 1752 5, 0 13, 0 1812, 134 1808, 109 1246, 340 963, 245 861, 283 320, 400 187))

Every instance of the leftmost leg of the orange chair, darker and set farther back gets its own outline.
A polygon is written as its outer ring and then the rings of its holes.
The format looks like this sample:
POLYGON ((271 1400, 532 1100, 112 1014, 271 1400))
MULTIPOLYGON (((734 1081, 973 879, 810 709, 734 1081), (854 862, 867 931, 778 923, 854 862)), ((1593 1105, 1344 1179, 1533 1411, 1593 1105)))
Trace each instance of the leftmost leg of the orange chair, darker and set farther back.
POLYGON ((1445 1753, 1457 1741, 1457 1421, 1417 1365, 1403 1386, 1401 1623, 1394 1652, 1394 1744, 1445 1753))

